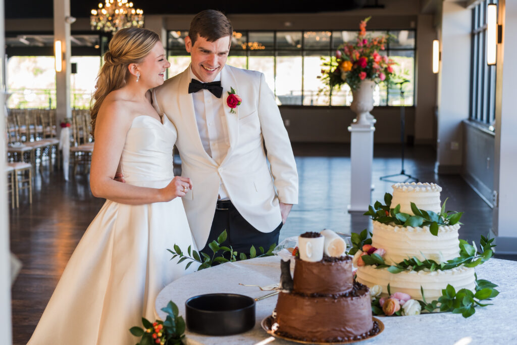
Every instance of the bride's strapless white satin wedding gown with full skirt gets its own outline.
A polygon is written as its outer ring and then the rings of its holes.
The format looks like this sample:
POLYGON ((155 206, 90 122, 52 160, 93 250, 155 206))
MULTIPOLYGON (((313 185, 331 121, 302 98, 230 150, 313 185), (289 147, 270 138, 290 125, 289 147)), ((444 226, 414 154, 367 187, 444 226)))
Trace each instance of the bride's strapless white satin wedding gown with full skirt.
MULTIPOLYGON (((126 183, 162 188, 174 177, 177 133, 166 116, 163 122, 134 118, 121 157, 126 183)), ((138 342, 129 328, 142 326, 142 317, 153 322, 160 290, 186 274, 186 263, 170 260, 166 249, 174 244, 195 249, 180 198, 138 206, 107 200, 75 248, 28 344, 138 342)), ((194 269, 191 265, 187 273, 194 269)))

